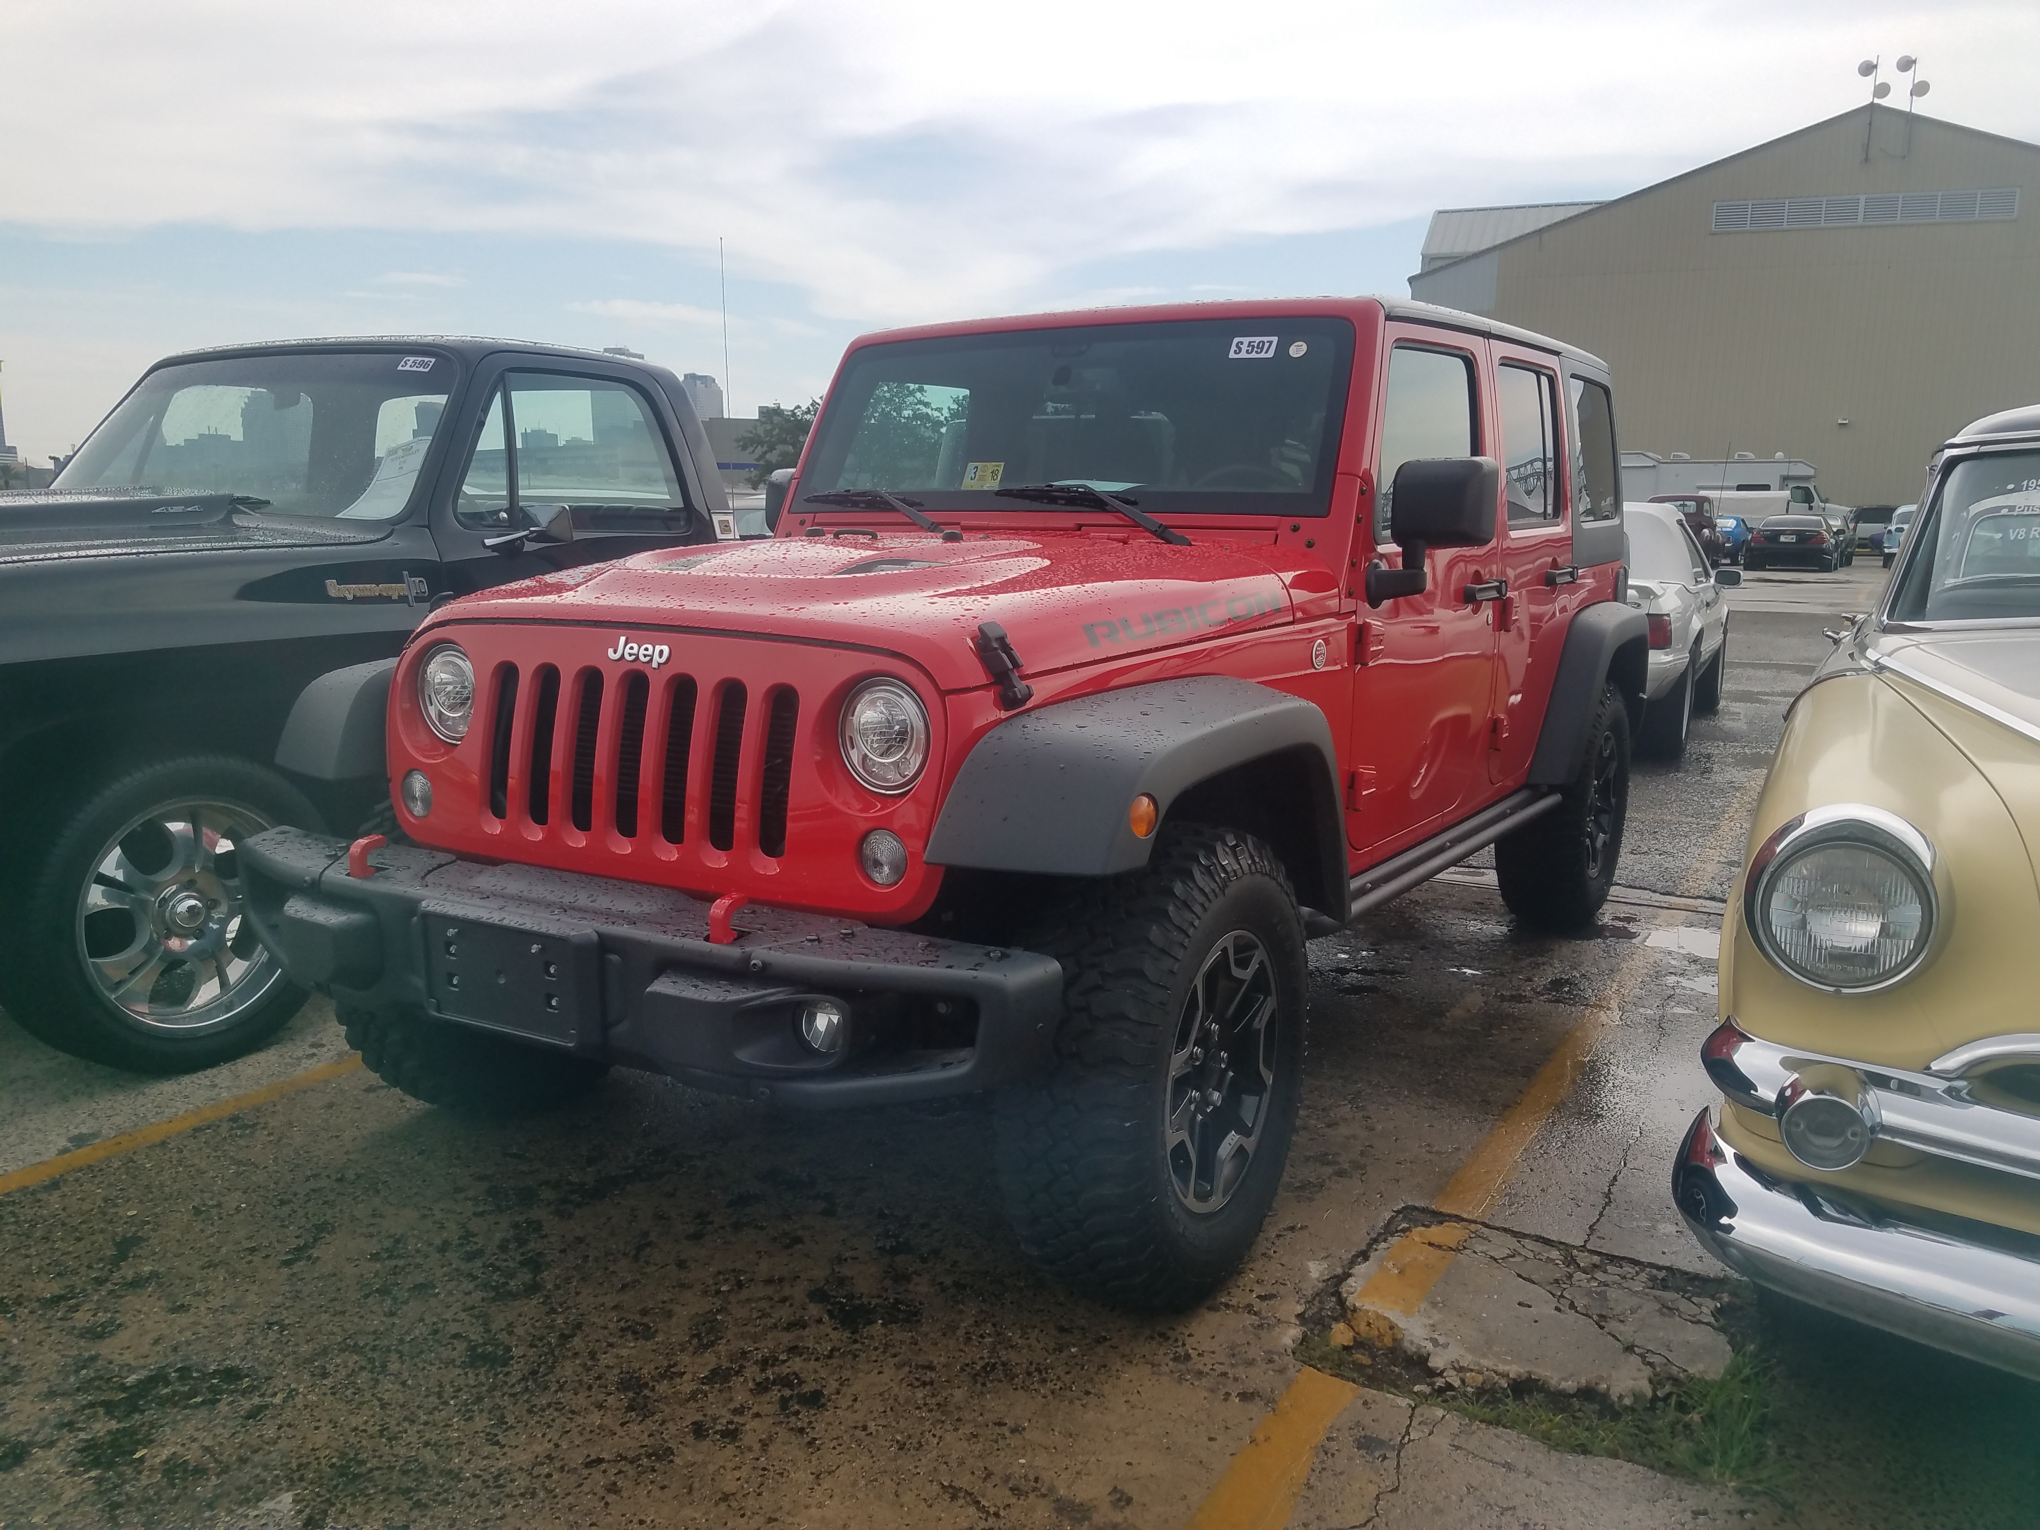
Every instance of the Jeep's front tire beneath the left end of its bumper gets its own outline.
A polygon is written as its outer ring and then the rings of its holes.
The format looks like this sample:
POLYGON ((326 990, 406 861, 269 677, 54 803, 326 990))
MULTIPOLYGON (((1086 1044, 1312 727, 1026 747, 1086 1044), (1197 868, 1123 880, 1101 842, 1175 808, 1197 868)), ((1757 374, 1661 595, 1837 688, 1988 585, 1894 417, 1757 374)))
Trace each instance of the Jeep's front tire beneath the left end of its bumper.
POLYGON ((477 1116, 522 1116, 598 1087, 610 1065, 406 1010, 339 1006, 347 1044, 384 1083, 477 1116))

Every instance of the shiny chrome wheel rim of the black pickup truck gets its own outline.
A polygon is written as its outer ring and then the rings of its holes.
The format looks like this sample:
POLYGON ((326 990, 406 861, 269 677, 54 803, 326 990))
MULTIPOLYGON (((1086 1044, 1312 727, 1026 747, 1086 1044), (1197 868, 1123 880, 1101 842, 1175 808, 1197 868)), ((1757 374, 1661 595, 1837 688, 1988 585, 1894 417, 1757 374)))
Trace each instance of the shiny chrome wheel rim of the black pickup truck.
POLYGON ((98 996, 143 1030, 216 1030, 284 981, 243 908, 239 845, 269 822, 228 802, 137 814, 78 894, 78 959, 98 996))

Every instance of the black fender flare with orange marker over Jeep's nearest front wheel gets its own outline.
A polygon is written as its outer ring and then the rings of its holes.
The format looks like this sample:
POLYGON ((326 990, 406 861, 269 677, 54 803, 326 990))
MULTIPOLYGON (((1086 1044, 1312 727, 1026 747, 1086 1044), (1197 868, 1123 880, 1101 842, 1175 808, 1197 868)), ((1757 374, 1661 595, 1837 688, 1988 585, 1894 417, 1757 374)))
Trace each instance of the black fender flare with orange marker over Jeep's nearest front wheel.
POLYGON ((1228 675, 1128 685, 1006 718, 957 771, 926 859, 1061 877, 1136 871, 1155 847, 1126 818, 1138 794, 1155 798, 1167 818, 1193 787, 1269 763, 1302 785, 1302 800, 1261 804, 1289 822, 1291 843, 1308 847, 1314 861, 1289 867, 1297 900, 1344 922, 1346 838, 1332 728, 1314 704, 1228 675))

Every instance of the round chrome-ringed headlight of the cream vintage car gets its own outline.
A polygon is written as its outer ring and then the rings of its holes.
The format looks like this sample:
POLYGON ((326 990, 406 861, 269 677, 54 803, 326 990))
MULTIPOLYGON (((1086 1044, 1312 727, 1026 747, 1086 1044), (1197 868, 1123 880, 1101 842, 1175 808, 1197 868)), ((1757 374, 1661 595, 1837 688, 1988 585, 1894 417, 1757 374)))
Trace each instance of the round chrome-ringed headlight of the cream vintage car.
POLYGON ((1816 808, 1756 851, 1742 914, 1758 949, 1801 983, 1889 987, 1934 938, 1934 847, 1883 808, 1816 808))

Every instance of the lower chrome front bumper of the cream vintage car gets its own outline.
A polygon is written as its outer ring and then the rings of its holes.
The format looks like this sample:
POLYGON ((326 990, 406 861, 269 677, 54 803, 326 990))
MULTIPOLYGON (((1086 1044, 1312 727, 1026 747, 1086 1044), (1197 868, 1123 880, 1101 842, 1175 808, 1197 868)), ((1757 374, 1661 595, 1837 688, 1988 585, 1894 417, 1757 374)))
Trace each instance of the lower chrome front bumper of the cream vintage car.
POLYGON ((1693 1236, 1758 1285, 2040 1381, 2040 1238, 1954 1218, 1928 1228, 1777 1179, 1722 1142, 1705 1110, 1671 1193, 1693 1236))

